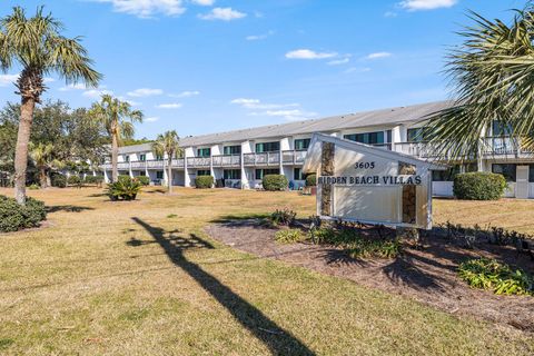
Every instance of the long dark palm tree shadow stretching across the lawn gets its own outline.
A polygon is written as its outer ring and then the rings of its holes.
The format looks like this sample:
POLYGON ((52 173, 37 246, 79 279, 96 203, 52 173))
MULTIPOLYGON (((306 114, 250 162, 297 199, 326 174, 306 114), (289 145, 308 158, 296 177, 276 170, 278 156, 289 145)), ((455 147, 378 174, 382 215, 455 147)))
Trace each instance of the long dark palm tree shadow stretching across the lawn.
MULTIPOLYGON (((217 278, 205 271, 200 266, 187 260, 184 251, 187 249, 208 248, 214 246, 197 235, 191 234, 184 238, 170 234, 166 237, 164 229, 151 226, 139 218, 134 221, 142 226, 166 251, 168 258, 191 276, 206 291, 208 291, 239 324, 247 328, 258 340, 267 346, 273 355, 315 355, 306 345, 289 332, 270 320, 258 308, 221 284, 217 278)), ((141 246, 151 241, 130 239, 128 245, 141 246)))

